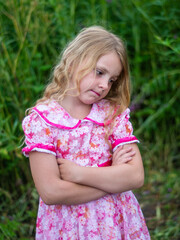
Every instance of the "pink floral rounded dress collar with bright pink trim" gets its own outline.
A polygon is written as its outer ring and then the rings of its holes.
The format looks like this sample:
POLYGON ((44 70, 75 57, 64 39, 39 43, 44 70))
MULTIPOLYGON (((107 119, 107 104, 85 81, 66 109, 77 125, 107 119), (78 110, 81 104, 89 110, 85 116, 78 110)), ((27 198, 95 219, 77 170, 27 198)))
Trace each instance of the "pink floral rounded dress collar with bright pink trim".
MULTIPOLYGON (((102 99, 92 105, 90 113, 82 120, 71 117, 71 115, 55 100, 39 104, 33 108, 33 111, 36 112, 48 125, 63 129, 74 129, 84 121, 91 121, 97 125, 104 126, 105 118, 108 116, 109 107, 109 101, 102 99)), ((106 124, 109 124, 110 122, 111 121, 108 121, 106 124)))

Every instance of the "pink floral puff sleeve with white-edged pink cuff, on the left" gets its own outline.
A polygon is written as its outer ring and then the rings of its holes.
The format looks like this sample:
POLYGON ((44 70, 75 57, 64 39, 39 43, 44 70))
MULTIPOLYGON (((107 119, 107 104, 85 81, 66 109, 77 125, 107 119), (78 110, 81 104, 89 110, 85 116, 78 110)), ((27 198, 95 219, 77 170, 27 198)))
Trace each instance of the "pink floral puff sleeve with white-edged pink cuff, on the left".
POLYGON ((52 129, 36 112, 32 112, 24 118, 22 127, 26 144, 22 152, 26 157, 31 151, 50 153, 56 156, 52 129))

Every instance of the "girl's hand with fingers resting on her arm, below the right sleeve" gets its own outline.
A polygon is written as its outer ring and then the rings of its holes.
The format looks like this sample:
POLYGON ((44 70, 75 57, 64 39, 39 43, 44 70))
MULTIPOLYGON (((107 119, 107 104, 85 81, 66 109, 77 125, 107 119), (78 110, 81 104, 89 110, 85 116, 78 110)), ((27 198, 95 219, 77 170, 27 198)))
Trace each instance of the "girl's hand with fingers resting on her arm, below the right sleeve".
POLYGON ((119 146, 112 156, 112 166, 127 163, 132 160, 135 151, 131 147, 119 146))

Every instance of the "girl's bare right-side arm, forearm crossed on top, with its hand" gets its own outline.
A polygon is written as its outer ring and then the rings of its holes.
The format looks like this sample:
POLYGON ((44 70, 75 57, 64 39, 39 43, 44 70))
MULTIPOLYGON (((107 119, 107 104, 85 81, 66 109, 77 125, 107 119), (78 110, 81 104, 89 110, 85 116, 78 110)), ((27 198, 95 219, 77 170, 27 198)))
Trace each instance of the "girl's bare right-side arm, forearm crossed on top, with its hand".
POLYGON ((95 187, 109 193, 139 188, 144 183, 141 154, 135 143, 124 145, 124 149, 129 147, 135 152, 132 160, 110 167, 80 167, 70 161, 59 159, 61 176, 67 181, 95 187))

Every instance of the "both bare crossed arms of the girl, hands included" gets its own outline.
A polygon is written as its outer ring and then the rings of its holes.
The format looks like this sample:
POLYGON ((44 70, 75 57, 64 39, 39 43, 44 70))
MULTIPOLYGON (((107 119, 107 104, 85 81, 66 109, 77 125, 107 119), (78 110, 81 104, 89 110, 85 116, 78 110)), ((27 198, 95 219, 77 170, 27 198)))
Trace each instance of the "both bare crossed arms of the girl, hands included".
POLYGON ((135 143, 117 148, 110 167, 81 167, 47 153, 29 155, 36 189, 48 205, 82 204, 107 194, 139 188, 144 169, 135 143))

